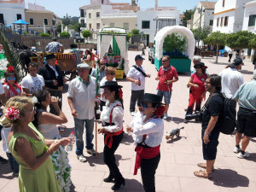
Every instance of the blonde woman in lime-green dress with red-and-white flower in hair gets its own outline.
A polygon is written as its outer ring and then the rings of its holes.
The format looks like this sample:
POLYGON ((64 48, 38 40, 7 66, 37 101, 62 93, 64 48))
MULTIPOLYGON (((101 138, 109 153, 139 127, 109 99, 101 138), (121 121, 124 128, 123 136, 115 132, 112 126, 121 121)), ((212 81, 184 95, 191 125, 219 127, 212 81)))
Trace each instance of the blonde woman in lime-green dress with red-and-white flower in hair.
POLYGON ((4 113, 13 124, 8 137, 8 147, 20 164, 20 191, 61 192, 49 158, 60 145, 67 145, 69 138, 44 139, 32 125, 34 107, 26 96, 13 96, 4 107, 4 113))

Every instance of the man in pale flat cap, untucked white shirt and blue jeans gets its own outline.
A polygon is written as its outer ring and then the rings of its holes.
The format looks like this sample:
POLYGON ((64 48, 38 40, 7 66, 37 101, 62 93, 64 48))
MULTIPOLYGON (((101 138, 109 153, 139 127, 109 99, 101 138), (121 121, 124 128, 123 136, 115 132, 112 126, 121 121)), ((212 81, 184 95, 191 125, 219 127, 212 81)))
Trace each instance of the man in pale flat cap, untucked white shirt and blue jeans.
POLYGON ((81 162, 86 162, 84 157, 84 124, 86 130, 86 148, 88 154, 96 154, 93 148, 93 128, 96 102, 96 78, 90 77, 90 66, 86 63, 77 66, 79 77, 73 79, 67 91, 67 102, 71 109, 75 124, 76 154, 81 162))

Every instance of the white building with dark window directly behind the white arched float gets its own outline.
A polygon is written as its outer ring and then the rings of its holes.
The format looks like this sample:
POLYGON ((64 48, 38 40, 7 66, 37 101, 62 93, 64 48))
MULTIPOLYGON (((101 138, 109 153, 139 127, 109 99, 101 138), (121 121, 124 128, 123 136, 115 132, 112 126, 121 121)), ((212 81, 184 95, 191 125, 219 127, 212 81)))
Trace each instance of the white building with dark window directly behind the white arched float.
POLYGON ((165 26, 179 26, 179 10, 176 8, 147 9, 137 12, 137 29, 143 32, 143 41, 154 44, 154 36, 165 26))

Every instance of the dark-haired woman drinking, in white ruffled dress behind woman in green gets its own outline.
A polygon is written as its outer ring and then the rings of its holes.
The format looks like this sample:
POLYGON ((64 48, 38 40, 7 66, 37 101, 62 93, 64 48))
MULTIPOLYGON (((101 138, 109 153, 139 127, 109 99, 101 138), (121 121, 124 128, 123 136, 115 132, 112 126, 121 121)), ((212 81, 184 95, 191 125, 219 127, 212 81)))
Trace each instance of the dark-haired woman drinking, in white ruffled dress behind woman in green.
MULTIPOLYGON (((38 102, 35 103, 36 115, 33 124, 44 138, 60 139, 61 135, 57 125, 67 123, 67 118, 58 105, 58 97, 50 96, 48 90, 38 90, 34 95, 37 97, 38 102), (49 104, 55 108, 57 115, 47 112, 49 104)), ((50 155, 50 158, 55 166, 55 174, 61 190, 63 192, 70 191, 72 184, 70 178, 71 167, 68 164, 65 149, 60 146, 55 153, 50 155)))

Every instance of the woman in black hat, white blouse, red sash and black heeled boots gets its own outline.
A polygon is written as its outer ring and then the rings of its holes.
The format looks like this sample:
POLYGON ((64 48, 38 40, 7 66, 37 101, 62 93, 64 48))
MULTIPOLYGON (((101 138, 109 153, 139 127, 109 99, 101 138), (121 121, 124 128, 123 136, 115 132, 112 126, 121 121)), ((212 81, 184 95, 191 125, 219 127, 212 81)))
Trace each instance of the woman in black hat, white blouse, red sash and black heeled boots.
POLYGON ((119 147, 124 135, 122 86, 118 85, 116 81, 106 81, 101 88, 104 89, 103 96, 107 102, 101 113, 103 127, 98 129, 98 133, 104 133, 103 160, 109 169, 109 176, 103 181, 110 183, 114 179, 114 185, 111 189, 117 190, 122 184, 125 185, 125 178, 119 172, 114 157, 114 152, 119 147))

